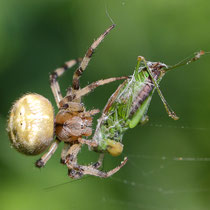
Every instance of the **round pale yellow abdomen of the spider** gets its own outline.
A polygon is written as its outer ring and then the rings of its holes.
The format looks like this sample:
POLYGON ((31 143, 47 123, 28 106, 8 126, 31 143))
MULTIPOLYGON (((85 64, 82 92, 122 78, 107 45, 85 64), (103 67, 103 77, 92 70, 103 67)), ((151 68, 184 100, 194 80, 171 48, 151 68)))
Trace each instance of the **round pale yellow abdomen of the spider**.
POLYGON ((26 155, 42 153, 53 140, 54 111, 50 101, 35 93, 22 96, 12 106, 7 130, 17 151, 26 155))

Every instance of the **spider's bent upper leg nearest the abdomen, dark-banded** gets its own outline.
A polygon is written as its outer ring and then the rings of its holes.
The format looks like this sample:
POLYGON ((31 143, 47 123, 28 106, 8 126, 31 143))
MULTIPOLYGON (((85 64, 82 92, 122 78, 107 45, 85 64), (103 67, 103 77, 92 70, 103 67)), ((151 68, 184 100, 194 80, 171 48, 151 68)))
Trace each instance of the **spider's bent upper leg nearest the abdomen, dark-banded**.
POLYGON ((56 101, 57 106, 59 107, 59 102, 62 100, 62 94, 60 91, 60 86, 58 84, 57 78, 63 75, 63 73, 77 64, 80 59, 70 60, 64 63, 64 65, 60 68, 57 68, 53 73, 50 74, 50 86, 56 101))

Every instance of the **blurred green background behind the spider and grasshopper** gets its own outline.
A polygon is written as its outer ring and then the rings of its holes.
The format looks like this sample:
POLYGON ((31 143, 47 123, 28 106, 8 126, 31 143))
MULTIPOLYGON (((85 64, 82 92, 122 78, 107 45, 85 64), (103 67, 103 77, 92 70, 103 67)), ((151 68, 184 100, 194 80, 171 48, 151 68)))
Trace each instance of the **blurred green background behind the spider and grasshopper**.
MULTIPOLYGON (((180 120, 168 118, 156 93, 150 122, 126 133, 121 157, 107 155, 105 170, 129 157, 112 178, 88 177, 71 183, 66 167, 59 164, 62 145, 41 170, 34 167, 40 156, 26 157, 11 149, 5 130, 11 104, 24 93, 36 92, 55 106, 49 72, 83 56, 111 25, 105 5, 117 27, 98 47, 82 86, 132 74, 138 55, 175 64, 200 49, 210 50, 210 1, 206 0, 1 0, 1 210, 210 209, 209 55, 165 76, 161 89, 180 120), (56 186, 61 183, 67 184, 56 186)), ((62 91, 71 84, 72 72, 59 80, 62 91)), ((87 109, 102 109, 118 84, 85 97, 87 109)), ((87 148, 80 153, 81 163, 96 158, 87 148)))

